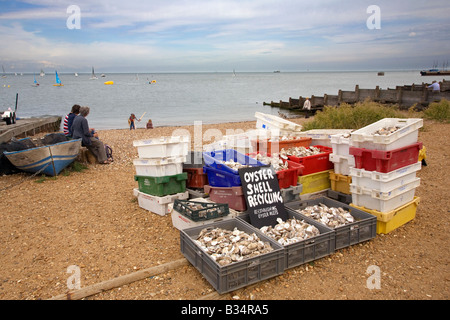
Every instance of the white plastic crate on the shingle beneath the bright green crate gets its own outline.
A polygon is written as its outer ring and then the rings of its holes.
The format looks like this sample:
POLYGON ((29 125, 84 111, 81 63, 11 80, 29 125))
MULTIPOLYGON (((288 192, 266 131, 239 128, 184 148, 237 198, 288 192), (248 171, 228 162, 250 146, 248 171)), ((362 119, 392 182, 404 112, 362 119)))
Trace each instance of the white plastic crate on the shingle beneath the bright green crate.
POLYGON ((144 192, 140 192, 139 189, 133 189, 133 194, 138 198, 138 204, 141 208, 156 213, 160 216, 165 216, 170 213, 175 199, 185 200, 189 198, 189 192, 182 192, 172 194, 164 197, 153 196, 144 192))

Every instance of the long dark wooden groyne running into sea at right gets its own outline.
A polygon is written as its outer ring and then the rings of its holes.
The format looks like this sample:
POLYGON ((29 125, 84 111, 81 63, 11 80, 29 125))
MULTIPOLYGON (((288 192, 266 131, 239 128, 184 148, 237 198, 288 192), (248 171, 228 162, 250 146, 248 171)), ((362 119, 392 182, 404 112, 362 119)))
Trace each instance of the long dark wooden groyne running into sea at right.
MULTIPOLYGON (((339 90, 337 95, 325 94, 323 96, 312 95, 309 100, 313 111, 322 110, 324 106, 339 106, 341 103, 355 104, 370 99, 384 104, 396 104, 401 109, 409 109, 416 105, 418 110, 426 108, 430 103, 442 99, 450 100, 450 81, 442 80, 439 82, 440 92, 433 92, 428 89, 426 83, 397 86, 395 89, 360 89, 355 86, 354 91, 339 90)), ((289 98, 289 101, 279 101, 270 103, 264 102, 264 105, 278 107, 281 109, 292 109, 302 111, 306 97, 289 98)))

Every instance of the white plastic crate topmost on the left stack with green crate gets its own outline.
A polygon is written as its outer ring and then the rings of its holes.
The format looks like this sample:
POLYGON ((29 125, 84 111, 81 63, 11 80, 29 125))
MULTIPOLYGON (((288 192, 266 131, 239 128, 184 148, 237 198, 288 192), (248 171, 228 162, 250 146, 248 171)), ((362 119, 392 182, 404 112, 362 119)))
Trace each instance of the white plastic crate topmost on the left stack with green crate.
POLYGON ((190 149, 189 136, 159 137, 133 141, 139 158, 164 158, 187 156, 190 149))

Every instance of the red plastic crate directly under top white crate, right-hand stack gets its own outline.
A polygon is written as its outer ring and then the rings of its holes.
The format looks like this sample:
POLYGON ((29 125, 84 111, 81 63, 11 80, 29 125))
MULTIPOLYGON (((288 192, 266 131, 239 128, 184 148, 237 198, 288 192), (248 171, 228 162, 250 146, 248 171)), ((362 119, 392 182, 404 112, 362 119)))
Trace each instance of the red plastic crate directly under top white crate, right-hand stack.
POLYGON ((387 173, 418 162, 420 149, 422 142, 391 151, 350 147, 349 153, 355 157, 355 168, 387 173))

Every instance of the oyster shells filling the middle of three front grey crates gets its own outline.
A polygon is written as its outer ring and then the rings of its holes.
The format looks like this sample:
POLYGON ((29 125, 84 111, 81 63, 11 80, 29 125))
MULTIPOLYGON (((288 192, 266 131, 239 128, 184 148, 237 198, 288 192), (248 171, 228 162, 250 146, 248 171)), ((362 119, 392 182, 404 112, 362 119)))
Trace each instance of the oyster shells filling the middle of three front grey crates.
POLYGON ((278 218, 277 222, 278 224, 274 227, 265 226, 260 228, 260 230, 283 246, 320 234, 319 229, 315 226, 306 223, 304 220, 298 220, 295 217, 286 221, 278 218))

